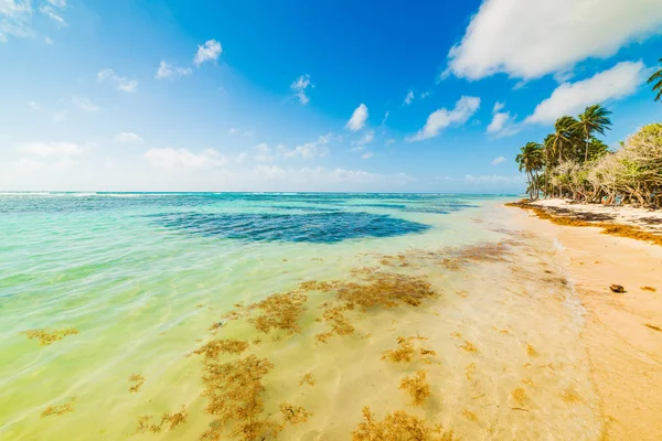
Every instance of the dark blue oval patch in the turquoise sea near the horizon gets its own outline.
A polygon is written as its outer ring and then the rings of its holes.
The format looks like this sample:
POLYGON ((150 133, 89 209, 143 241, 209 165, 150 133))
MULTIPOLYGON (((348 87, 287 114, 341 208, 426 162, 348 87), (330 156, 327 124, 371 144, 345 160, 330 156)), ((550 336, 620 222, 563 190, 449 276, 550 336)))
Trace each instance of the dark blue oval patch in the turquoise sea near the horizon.
POLYGON ((423 233, 429 225, 370 213, 216 214, 171 213, 148 216, 157 224, 196 236, 252 241, 333 244, 360 237, 423 233))

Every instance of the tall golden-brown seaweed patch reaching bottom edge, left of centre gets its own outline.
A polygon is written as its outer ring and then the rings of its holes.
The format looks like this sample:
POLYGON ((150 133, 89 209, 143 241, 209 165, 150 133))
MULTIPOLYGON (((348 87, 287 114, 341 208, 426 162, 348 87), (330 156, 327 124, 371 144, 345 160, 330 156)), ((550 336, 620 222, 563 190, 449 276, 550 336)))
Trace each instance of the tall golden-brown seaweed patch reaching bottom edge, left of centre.
POLYGON ((282 430, 280 423, 260 419, 265 409, 261 379, 274 367, 268 359, 248 355, 220 363, 205 357, 203 366, 205 388, 202 396, 207 398, 206 411, 215 419, 201 440, 221 440, 226 428, 231 429, 232 437, 245 441, 275 438, 282 430))

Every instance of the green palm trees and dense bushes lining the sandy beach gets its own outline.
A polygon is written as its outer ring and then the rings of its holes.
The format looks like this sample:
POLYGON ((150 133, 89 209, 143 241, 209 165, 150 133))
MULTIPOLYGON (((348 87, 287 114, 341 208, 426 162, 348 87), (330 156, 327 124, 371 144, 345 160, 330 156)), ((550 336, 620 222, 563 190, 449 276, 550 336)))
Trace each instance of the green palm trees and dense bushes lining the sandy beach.
MULTIPOLYGON (((655 75, 651 79, 660 79, 655 87, 662 92, 662 71, 655 75)), ((595 137, 611 126, 609 115, 600 105, 589 106, 577 118, 558 118, 543 143, 522 147, 515 161, 526 173, 531 200, 542 194, 587 203, 662 205, 662 123, 641 128, 620 149, 609 151, 595 137)))

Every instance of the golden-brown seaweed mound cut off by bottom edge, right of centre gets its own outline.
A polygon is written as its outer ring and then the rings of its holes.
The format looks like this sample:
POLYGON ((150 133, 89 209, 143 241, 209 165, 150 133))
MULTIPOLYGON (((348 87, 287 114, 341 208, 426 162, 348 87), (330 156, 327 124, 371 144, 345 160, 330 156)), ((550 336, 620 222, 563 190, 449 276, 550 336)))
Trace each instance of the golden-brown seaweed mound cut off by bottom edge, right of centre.
POLYGON ((353 441, 452 441, 453 434, 445 432, 440 424, 429 427, 425 420, 404 410, 387 413, 384 420, 377 421, 363 408, 363 421, 352 432, 353 441))

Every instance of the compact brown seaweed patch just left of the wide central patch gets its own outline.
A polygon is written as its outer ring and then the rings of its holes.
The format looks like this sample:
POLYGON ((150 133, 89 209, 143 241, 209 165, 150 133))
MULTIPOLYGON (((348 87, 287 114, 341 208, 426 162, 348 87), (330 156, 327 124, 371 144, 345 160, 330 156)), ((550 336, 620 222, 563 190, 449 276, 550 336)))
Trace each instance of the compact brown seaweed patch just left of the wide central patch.
POLYGON ((248 306, 250 310, 261 311, 261 314, 250 318, 248 321, 255 324, 257 331, 265 334, 273 329, 286 331, 289 334, 301 332, 298 322, 306 311, 307 301, 308 295, 293 291, 269 295, 248 306))

